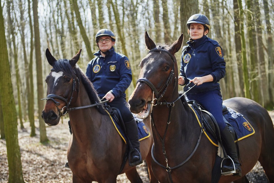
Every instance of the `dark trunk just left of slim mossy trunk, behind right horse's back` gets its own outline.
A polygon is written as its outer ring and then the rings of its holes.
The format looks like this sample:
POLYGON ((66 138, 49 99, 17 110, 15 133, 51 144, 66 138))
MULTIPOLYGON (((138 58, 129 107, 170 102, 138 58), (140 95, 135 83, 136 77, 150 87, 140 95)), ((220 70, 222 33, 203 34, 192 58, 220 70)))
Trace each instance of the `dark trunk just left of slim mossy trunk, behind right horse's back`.
MULTIPOLYGON (((242 52, 242 44, 241 44, 241 32, 240 32, 240 18, 239 18, 239 6, 238 0, 233 0, 233 9, 234 9, 234 33, 235 33, 235 49, 236 49, 236 60, 238 64, 238 74, 239 80, 235 81, 235 83, 239 83, 236 89, 236 96, 243 97, 244 96, 244 80, 243 80, 243 64, 241 59, 242 52)), ((234 77, 236 78, 236 77, 234 77)))

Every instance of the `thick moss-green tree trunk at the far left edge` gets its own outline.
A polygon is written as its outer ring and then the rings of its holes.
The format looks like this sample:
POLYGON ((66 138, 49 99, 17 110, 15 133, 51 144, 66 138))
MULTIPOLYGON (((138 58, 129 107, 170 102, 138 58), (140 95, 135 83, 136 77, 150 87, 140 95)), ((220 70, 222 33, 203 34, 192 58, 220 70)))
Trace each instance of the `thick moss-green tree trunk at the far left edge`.
POLYGON ((10 64, 7 53, 7 43, 5 38, 4 18, 2 6, 0 6, 0 98, 3 107, 3 119, 5 128, 5 138, 7 146, 7 160, 9 164, 9 181, 10 183, 24 182, 20 147, 18 144, 17 117, 14 113, 15 103, 12 92, 12 81, 10 74, 10 64))

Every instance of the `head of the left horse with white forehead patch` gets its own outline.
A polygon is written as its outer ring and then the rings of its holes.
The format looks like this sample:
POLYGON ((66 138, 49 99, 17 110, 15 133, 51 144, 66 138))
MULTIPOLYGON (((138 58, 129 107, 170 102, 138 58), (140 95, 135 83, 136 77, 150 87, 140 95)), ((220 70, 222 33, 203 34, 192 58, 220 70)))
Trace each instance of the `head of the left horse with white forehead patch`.
POLYGON ((52 69, 46 77, 48 88, 47 97, 44 99, 47 102, 42 111, 42 118, 48 125, 57 125, 60 117, 66 113, 72 99, 76 98, 73 96, 77 96, 76 87, 79 81, 76 77, 75 67, 81 51, 82 49, 70 60, 56 60, 50 51, 46 49, 46 57, 52 69))

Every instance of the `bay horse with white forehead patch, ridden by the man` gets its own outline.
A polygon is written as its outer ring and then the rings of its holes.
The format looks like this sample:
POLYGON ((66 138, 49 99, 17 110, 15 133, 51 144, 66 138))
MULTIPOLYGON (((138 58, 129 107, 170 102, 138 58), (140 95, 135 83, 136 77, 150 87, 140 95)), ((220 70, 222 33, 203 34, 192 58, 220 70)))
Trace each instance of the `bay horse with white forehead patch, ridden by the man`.
MULTIPOLYGON (((92 83, 76 64, 80 53, 81 49, 70 60, 56 60, 46 50, 52 69, 46 77, 48 96, 42 111, 45 123, 50 126, 57 125, 61 115, 69 111, 72 135, 67 160, 72 171, 72 181, 114 183, 118 174, 125 173, 131 182, 142 182, 136 167, 130 167, 128 161, 120 170, 126 145, 109 114, 100 105, 102 102, 92 83), (77 110, 72 110, 74 108, 77 110)), ((149 121, 144 123, 151 134, 149 121)), ((151 167, 152 144, 151 135, 140 141, 142 159, 146 158, 148 167, 151 167)), ((150 176, 151 182, 156 182, 153 175, 150 176)))

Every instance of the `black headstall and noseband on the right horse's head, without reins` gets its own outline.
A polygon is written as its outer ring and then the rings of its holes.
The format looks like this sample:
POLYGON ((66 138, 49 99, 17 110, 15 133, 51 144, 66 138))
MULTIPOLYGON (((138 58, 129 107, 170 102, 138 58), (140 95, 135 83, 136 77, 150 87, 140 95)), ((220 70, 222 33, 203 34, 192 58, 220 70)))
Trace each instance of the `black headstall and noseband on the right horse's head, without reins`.
MULTIPOLYGON (((154 100, 156 100, 156 104, 155 105, 157 105, 157 100, 160 100, 164 96, 164 94, 166 93, 168 85, 172 81, 172 76, 174 76, 175 59, 174 59, 173 55, 171 55, 171 53, 169 51, 167 51, 167 50, 153 48, 153 49, 151 49, 149 51, 149 53, 151 53, 153 51, 167 53, 171 57, 171 59, 173 61, 173 67, 172 67, 172 70, 170 71, 168 79, 166 80, 166 83, 162 86, 162 88, 159 91, 157 91, 157 89, 155 88, 155 86, 147 78, 139 78, 137 80, 136 84, 139 83, 139 82, 140 83, 146 83, 151 88, 151 90, 153 91, 153 96, 152 96, 151 103, 154 104, 154 100), (155 94, 155 98, 154 98, 154 94, 155 94)), ((175 87, 176 81, 177 81, 176 76, 174 76, 174 87, 175 87)))

